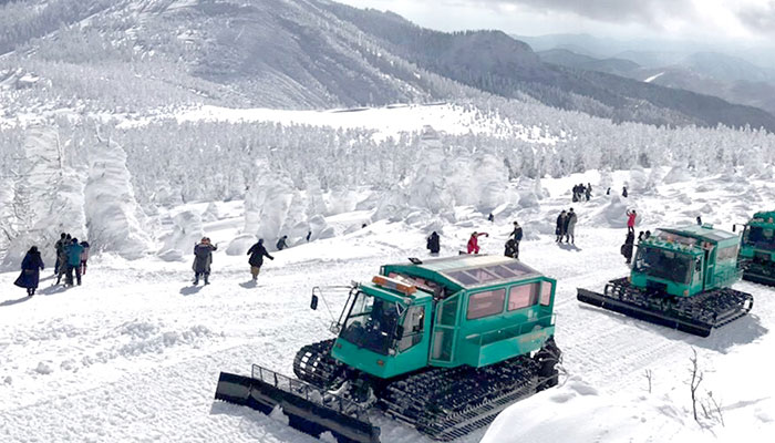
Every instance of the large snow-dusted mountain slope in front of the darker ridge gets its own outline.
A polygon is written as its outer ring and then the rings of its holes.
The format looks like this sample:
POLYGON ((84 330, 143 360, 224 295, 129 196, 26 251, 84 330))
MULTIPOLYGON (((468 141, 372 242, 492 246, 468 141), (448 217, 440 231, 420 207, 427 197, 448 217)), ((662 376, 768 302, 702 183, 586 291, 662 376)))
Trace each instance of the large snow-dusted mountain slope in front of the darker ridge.
POLYGON ((0 78, 17 76, 0 91, 16 84, 17 106, 319 109, 496 94, 614 122, 775 132, 760 109, 619 76, 624 60, 564 66, 499 31, 437 32, 327 0, 30 0, 0 6, 0 52, 11 51, 0 78), (40 81, 21 90, 27 73, 40 81))

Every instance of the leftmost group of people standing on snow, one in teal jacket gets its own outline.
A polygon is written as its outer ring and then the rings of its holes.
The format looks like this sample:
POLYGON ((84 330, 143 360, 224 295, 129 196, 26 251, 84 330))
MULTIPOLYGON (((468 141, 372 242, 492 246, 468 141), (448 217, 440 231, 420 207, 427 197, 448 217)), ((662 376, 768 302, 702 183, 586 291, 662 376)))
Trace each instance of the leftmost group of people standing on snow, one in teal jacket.
MULTIPOLYGON (((56 254, 56 261, 54 262, 55 285, 60 285, 62 277, 64 277, 65 286, 74 286, 74 282, 81 286, 81 278, 86 274, 89 249, 89 241, 83 240, 79 243, 78 238, 62 233, 60 239, 54 244, 56 254), (75 281, 73 281, 73 275, 75 276, 75 281)), ((40 271, 44 268, 45 265, 40 250, 37 246, 32 246, 21 260, 21 274, 13 284, 20 288, 25 288, 28 297, 32 297, 35 295, 40 284, 40 271)))

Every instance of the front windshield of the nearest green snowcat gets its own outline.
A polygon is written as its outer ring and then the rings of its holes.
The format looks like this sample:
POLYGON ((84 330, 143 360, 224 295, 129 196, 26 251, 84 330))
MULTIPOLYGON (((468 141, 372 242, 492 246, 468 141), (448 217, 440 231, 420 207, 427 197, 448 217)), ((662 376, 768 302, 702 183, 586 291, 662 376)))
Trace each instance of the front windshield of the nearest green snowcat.
POLYGON ((399 303, 358 292, 340 337, 359 348, 388 356, 402 312, 399 303))

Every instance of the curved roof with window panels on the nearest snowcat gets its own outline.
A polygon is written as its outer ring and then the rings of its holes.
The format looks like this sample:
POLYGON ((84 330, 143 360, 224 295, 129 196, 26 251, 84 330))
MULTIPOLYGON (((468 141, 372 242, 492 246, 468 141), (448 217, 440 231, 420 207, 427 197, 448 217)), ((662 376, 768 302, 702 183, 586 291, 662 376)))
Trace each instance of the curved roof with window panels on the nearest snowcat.
POLYGON ((418 264, 391 265, 385 268, 392 271, 406 271, 427 280, 454 286, 456 289, 494 286, 542 276, 514 258, 487 255, 459 255, 418 264))

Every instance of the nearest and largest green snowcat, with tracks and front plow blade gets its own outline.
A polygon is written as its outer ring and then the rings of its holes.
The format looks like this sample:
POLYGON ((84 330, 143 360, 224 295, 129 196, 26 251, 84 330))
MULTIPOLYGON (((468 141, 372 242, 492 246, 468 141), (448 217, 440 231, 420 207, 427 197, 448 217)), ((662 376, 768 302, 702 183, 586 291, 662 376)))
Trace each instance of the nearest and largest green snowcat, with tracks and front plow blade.
POLYGON ((221 372, 216 399, 279 406, 291 426, 340 443, 379 442, 373 408, 451 441, 557 384, 556 280, 508 257, 411 261, 348 288, 338 337, 298 351, 298 380, 259 365, 221 372))

